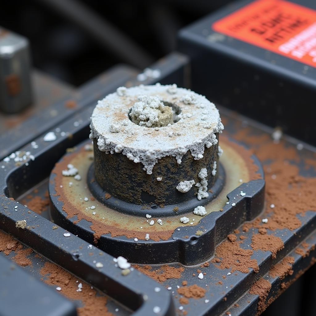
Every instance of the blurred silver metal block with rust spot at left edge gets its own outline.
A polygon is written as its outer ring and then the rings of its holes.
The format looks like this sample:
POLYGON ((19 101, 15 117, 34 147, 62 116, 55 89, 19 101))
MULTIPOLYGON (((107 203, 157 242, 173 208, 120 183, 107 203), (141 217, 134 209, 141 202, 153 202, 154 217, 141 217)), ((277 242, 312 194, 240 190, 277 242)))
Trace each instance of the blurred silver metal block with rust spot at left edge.
POLYGON ((20 112, 32 102, 28 40, 0 27, 0 110, 20 112))

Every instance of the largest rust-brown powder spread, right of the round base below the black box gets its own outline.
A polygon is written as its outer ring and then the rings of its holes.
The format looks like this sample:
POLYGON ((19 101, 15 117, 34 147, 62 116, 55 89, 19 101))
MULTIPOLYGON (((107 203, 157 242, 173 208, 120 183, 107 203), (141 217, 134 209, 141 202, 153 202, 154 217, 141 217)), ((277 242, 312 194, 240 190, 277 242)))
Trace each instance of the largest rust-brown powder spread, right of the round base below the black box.
MULTIPOLYGON (((283 141, 274 143, 267 134, 253 135, 249 128, 240 128, 234 135, 249 145, 264 165, 266 181, 266 209, 262 218, 270 214, 269 221, 262 223, 257 219, 244 225, 243 230, 249 228, 268 228, 270 230, 288 228, 290 230, 301 227, 298 214, 304 215, 307 210, 316 210, 316 178, 306 178, 299 174, 299 168, 292 163, 300 162, 302 156, 294 146, 287 146, 283 141), (270 161, 272 163, 269 163, 270 161), (274 204, 274 208, 270 205, 274 204)), ((306 166, 314 166, 311 161, 315 155, 306 157, 306 166)), ((246 230, 245 230, 246 229, 246 230)))

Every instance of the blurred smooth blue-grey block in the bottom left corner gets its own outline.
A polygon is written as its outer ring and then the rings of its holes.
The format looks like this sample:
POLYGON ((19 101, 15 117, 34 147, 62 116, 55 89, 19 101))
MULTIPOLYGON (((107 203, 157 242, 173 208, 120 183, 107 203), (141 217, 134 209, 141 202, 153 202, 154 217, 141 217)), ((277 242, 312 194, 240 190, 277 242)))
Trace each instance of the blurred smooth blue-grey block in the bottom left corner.
POLYGON ((76 316, 75 305, 35 279, 11 260, 0 256, 0 316, 76 316), (58 307, 58 308, 57 308, 58 307))

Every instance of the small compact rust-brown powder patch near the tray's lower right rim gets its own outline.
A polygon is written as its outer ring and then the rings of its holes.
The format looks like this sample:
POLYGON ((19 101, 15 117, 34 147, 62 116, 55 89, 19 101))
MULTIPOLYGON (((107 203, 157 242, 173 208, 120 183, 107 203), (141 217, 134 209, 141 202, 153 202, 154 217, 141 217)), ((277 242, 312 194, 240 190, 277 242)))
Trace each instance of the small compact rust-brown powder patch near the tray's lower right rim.
POLYGON ((251 247, 253 250, 270 251, 272 252, 272 258, 276 258, 276 252, 284 248, 284 243, 280 237, 255 234, 252 236, 251 247))

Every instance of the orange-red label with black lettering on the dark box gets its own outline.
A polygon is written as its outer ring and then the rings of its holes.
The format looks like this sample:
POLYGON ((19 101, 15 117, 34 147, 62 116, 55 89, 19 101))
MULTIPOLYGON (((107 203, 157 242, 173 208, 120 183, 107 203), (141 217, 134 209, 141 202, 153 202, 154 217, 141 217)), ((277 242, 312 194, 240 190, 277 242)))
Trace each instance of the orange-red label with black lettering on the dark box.
POLYGON ((316 11, 283 0, 257 0, 216 21, 216 32, 316 67, 316 11))

